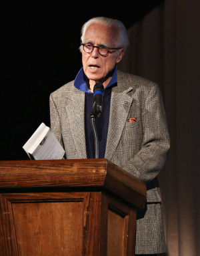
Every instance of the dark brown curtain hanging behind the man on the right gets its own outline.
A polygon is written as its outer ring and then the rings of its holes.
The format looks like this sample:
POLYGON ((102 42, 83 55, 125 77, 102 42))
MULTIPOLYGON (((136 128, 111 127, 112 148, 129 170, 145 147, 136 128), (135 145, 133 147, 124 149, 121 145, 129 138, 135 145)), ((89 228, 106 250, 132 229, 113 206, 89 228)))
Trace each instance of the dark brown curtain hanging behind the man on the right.
POLYGON ((200 2, 168 0, 128 29, 119 68, 157 82, 171 136, 159 176, 167 255, 200 251, 200 2))

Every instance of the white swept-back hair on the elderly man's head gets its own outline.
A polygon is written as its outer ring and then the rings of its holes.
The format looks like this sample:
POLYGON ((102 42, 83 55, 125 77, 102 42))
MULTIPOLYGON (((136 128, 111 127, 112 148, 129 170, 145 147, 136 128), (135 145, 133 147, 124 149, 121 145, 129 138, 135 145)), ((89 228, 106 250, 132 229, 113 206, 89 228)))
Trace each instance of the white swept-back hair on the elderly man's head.
POLYGON ((115 47, 122 47, 125 51, 127 46, 129 45, 129 39, 127 37, 127 30, 125 28, 125 25, 118 19, 111 19, 107 17, 94 17, 92 19, 89 19, 85 24, 83 24, 83 27, 81 29, 81 41, 84 41, 85 37, 85 31, 91 25, 92 23, 100 23, 107 27, 111 27, 113 29, 117 29, 118 35, 117 35, 117 42, 115 47))

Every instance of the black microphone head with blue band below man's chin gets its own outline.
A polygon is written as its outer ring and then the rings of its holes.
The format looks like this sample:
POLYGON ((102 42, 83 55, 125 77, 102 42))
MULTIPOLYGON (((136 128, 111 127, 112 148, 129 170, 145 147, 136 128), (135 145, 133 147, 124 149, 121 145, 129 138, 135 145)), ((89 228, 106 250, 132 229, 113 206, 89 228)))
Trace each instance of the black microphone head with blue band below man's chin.
POLYGON ((102 113, 103 91, 104 91, 103 84, 101 84, 101 83, 95 84, 94 89, 93 89, 93 94, 94 94, 93 114, 95 117, 101 116, 101 113, 102 113))

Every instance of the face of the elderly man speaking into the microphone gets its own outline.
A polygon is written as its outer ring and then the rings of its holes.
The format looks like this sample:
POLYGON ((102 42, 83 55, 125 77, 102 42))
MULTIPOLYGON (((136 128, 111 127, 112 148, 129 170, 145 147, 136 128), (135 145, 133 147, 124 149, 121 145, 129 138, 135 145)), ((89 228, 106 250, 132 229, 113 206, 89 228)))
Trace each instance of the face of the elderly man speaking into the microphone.
MULTIPOLYGON (((93 43, 95 46, 106 45, 107 47, 116 47, 116 31, 99 23, 89 25, 85 32, 83 43, 93 43)), ((91 88, 97 83, 101 82, 103 86, 107 86, 111 80, 110 72, 115 68, 122 56, 123 50, 120 50, 119 55, 111 50, 107 56, 102 56, 94 47, 92 53, 86 53, 82 49, 82 62, 85 75, 89 79, 91 88)))

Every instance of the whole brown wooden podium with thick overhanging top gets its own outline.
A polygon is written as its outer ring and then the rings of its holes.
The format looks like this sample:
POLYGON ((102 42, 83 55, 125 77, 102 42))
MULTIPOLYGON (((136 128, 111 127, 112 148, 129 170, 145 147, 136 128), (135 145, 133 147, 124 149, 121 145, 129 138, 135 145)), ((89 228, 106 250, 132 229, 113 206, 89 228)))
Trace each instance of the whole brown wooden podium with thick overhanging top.
POLYGON ((106 159, 1 161, 0 255, 133 256, 145 200, 106 159))

